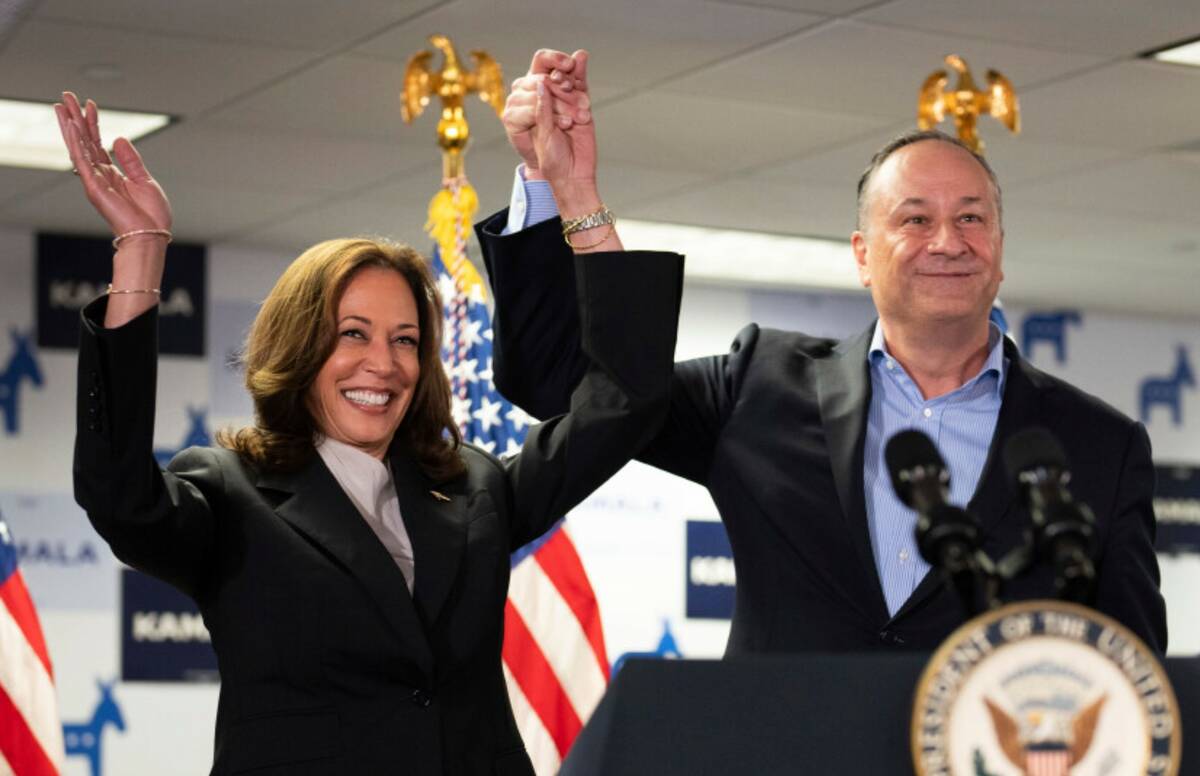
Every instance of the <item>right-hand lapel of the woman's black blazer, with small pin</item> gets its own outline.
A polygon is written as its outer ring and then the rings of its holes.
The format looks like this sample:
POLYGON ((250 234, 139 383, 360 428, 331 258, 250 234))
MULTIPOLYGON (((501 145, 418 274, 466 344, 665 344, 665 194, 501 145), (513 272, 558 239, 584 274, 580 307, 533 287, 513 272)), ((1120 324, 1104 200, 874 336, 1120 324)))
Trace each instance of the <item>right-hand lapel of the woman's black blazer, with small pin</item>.
POLYGON ((422 621, 432 626, 466 552, 467 497, 452 488, 433 487, 412 456, 394 456, 391 473, 400 497, 400 516, 413 542, 416 567, 413 596, 422 621))

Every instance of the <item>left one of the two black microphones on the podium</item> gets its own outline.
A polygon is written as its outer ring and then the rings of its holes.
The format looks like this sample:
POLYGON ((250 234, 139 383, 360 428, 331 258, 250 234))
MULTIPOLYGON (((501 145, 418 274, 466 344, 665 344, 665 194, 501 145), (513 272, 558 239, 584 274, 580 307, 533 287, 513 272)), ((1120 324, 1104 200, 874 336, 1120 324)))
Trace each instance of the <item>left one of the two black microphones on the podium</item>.
POLYGON ((902 431, 888 440, 883 459, 900 501, 917 512, 922 558, 950 578, 967 613, 974 614, 979 524, 947 501, 950 473, 937 447, 919 431, 902 431))

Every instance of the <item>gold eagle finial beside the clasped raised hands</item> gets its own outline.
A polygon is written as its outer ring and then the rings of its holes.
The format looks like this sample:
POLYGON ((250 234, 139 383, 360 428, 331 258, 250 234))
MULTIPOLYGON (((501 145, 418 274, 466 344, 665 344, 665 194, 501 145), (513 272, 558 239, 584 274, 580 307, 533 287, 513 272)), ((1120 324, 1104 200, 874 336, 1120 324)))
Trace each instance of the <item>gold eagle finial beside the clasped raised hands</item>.
POLYGON ((442 98, 438 145, 442 146, 443 175, 446 180, 452 180, 462 178, 462 155, 470 140, 463 97, 478 94, 480 100, 496 110, 496 115, 500 115, 504 110, 504 76, 500 66, 486 52, 470 53, 475 68, 468 71, 460 62, 449 37, 431 35, 430 43, 442 52, 445 64, 440 72, 431 70, 432 52, 418 52, 408 60, 404 89, 400 96, 400 113, 404 124, 412 124, 434 95, 442 98))

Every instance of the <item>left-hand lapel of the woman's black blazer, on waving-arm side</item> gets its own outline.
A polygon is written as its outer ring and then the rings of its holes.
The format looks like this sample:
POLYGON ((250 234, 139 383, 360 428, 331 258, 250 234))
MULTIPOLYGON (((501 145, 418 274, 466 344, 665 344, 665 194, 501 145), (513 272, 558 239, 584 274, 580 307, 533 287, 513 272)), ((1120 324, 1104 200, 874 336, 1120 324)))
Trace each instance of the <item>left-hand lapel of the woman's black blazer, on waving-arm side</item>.
POLYGON ((431 679, 433 655, 404 576, 320 456, 314 455, 306 467, 292 474, 263 474, 258 486, 292 494, 276 507, 276 513, 325 549, 362 585, 406 656, 431 679))

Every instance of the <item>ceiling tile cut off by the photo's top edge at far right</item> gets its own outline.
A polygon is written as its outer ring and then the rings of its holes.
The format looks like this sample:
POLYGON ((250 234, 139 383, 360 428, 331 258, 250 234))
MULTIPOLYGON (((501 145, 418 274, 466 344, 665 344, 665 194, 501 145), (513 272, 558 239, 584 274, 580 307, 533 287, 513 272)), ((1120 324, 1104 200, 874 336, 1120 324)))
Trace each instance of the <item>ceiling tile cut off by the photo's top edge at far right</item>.
POLYGON ((1195 0, 1154 0, 1141 12, 1128 2, 1096 0, 1004 0, 1002 10, 990 2, 895 0, 859 18, 944 32, 953 50, 958 42, 950 36, 962 36, 1129 56, 1200 35, 1195 0))

